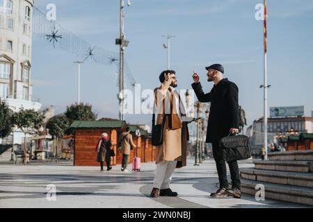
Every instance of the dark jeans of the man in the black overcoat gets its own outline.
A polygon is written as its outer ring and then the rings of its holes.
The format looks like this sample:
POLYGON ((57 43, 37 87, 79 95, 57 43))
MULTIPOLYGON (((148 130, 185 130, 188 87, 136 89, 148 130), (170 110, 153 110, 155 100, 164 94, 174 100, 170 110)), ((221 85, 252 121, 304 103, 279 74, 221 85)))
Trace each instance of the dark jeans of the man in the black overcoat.
MULTIPOLYGON (((212 151, 214 160, 216 162, 216 169, 218 171, 218 180, 220 181, 220 188, 228 189, 226 163, 223 160, 223 152, 218 142, 212 143, 212 151)), ((239 167, 237 161, 227 162, 230 167, 230 176, 232 178, 232 188, 241 189, 239 167)))

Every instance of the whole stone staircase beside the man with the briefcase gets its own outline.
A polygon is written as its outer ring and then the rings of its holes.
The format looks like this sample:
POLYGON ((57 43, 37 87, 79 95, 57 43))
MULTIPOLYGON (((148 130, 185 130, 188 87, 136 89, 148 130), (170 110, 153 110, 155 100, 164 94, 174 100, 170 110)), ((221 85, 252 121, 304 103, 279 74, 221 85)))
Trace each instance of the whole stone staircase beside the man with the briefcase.
POLYGON ((241 169, 243 193, 255 195, 262 184, 265 198, 313 205, 313 151, 269 153, 268 158, 241 169))

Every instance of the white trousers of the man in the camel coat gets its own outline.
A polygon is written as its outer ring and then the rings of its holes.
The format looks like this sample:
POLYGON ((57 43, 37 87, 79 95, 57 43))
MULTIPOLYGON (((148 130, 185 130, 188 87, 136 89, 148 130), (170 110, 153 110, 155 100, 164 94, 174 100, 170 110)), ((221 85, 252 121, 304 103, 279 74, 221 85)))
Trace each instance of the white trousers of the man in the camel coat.
POLYGON ((172 181, 172 173, 176 169, 177 161, 162 161, 157 164, 153 180, 153 188, 168 189, 172 181))

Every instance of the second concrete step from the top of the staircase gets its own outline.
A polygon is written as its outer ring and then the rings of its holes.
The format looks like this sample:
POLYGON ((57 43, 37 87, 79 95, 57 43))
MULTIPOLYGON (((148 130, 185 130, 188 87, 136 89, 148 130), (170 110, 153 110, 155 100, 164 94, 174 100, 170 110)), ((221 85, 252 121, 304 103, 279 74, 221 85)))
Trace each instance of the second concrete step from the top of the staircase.
POLYGON ((291 171, 291 172, 313 172, 312 161, 295 161, 295 160, 255 160, 253 161, 256 169, 266 169, 272 171, 291 171))

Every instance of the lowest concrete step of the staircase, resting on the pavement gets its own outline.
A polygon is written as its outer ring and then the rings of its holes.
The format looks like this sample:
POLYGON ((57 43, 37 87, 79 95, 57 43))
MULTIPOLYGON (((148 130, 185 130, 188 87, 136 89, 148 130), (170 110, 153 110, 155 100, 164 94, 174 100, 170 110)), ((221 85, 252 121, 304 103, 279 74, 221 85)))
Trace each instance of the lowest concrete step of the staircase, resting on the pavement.
POLYGON ((259 191, 258 189, 255 189, 255 187, 259 184, 264 185, 265 198, 313 206, 312 188, 276 185, 268 182, 258 182, 254 180, 241 180, 241 191, 244 194, 255 196, 257 191, 259 191))

